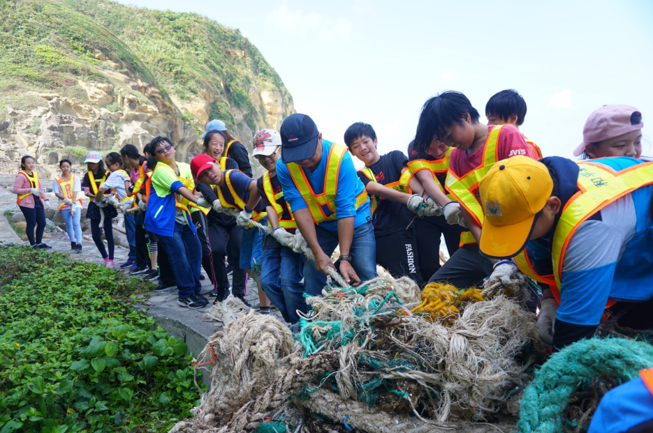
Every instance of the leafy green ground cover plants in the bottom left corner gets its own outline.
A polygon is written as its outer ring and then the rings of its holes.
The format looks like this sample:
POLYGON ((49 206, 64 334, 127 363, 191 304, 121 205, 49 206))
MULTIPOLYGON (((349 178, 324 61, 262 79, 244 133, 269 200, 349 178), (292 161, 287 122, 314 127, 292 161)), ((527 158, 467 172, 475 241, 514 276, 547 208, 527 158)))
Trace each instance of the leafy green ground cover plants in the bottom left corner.
POLYGON ((147 284, 0 246, 0 433, 163 432, 191 416, 186 344, 131 307, 147 284))

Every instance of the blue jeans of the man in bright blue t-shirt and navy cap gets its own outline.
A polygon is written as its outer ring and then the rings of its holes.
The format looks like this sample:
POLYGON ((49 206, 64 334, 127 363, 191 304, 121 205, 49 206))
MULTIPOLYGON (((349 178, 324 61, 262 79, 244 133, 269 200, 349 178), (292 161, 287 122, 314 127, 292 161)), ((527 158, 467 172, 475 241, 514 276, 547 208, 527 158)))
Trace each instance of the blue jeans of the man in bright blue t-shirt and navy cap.
MULTIPOLYGON (((315 233, 322 251, 331 257, 338 245, 338 232, 328 231, 316 225, 315 233)), ((351 266, 361 282, 376 276, 376 239, 372 221, 365 222, 354 229, 349 255, 351 255, 351 266)), ((326 285, 326 275, 318 271, 313 261, 306 261, 304 265, 304 284, 306 293, 311 296, 320 296, 326 285)))

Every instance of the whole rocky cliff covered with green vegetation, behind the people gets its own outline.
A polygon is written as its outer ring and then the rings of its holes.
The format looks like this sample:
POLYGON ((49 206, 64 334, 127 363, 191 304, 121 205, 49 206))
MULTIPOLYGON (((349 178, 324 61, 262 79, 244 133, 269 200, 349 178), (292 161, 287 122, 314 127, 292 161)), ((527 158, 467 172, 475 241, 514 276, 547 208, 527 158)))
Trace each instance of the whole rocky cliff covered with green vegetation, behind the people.
POLYGON ((54 174, 61 158, 142 149, 157 135, 190 158, 210 119, 251 146, 256 130, 278 129, 294 112, 261 52, 200 15, 108 0, 0 0, 0 17, 0 172, 30 154, 39 172, 54 174))

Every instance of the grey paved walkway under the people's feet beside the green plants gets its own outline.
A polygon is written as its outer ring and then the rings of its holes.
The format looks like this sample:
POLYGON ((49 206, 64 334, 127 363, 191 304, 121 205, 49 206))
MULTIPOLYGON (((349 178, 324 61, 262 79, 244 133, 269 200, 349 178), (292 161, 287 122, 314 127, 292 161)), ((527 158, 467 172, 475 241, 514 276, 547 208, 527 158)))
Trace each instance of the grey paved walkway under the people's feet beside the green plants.
MULTIPOLYGON (((43 182, 43 185, 47 185, 47 181, 43 182)), ((8 180, 4 178, 4 176, 0 178, 0 242, 19 243, 27 246, 29 243, 22 241, 17 236, 15 231, 10 227, 7 218, 4 216, 4 212, 8 209, 17 210, 16 195, 11 192, 11 188, 13 187, 13 177, 10 178, 10 185, 8 185, 8 183, 8 180)), ((57 203, 57 198, 54 197, 52 192, 47 193, 47 196, 50 199, 51 206, 52 204, 57 203)), ((87 202, 85 202, 85 204, 86 203, 87 202)), ((88 234, 88 232, 84 233, 88 234)), ((64 254, 71 252, 71 241, 65 233, 51 234, 50 238, 44 238, 44 242, 52 247, 51 251, 58 251, 64 254)), ((116 266, 127 260, 128 253, 129 250, 127 248, 116 245, 114 255, 116 266)), ((95 244, 91 241, 84 241, 82 243, 81 254, 73 253, 70 257, 71 259, 84 260, 96 264, 102 264, 103 261, 95 244)), ((127 273, 129 269, 121 270, 117 268, 116 271, 127 273)), ((204 280, 202 281, 202 293, 212 301, 214 298, 209 296, 209 292, 212 288, 211 282, 204 271, 202 271, 202 274, 204 275, 204 280)), ((133 278, 140 277, 136 275, 133 278)), ((231 280, 231 277, 229 277, 229 280, 231 280)), ((154 285, 152 286, 152 289, 154 289, 154 285)), ((258 291, 256 290, 256 282, 254 282, 254 280, 247 280, 247 295, 245 298, 249 303, 251 303, 251 305, 258 307, 258 291)), ((189 310, 181 307, 177 304, 177 291, 175 290, 163 293, 152 291, 149 295, 142 298, 142 303, 136 304, 135 307, 146 309, 147 314, 152 315, 157 324, 166 329, 168 333, 184 340, 184 342, 188 344, 189 353, 192 352, 194 355, 199 354, 200 351, 204 349, 207 339, 222 328, 221 322, 206 317, 206 312, 210 309, 211 304, 198 310, 189 310)), ((285 323, 284 319, 281 318, 279 310, 273 309, 272 314, 274 314, 282 323, 285 323)), ((205 375, 205 383, 208 385, 209 383, 207 383, 207 379, 208 377, 205 375)))

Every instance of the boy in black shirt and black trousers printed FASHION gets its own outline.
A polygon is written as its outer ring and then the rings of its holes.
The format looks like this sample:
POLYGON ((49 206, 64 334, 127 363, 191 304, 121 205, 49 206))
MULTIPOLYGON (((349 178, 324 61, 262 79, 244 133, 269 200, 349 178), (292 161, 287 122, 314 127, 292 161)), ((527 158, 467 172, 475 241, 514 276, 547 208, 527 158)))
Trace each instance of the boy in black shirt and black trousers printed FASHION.
MULTIPOLYGON (((421 216, 425 204, 421 197, 422 185, 406 166, 408 158, 400 151, 379 155, 376 132, 367 123, 358 122, 347 128, 344 142, 356 158, 365 162, 365 168, 358 170, 358 177, 372 199, 376 263, 395 277, 406 275, 421 285, 423 278, 413 221, 414 213, 421 216)), ((431 259, 438 260, 437 257, 431 259)))

